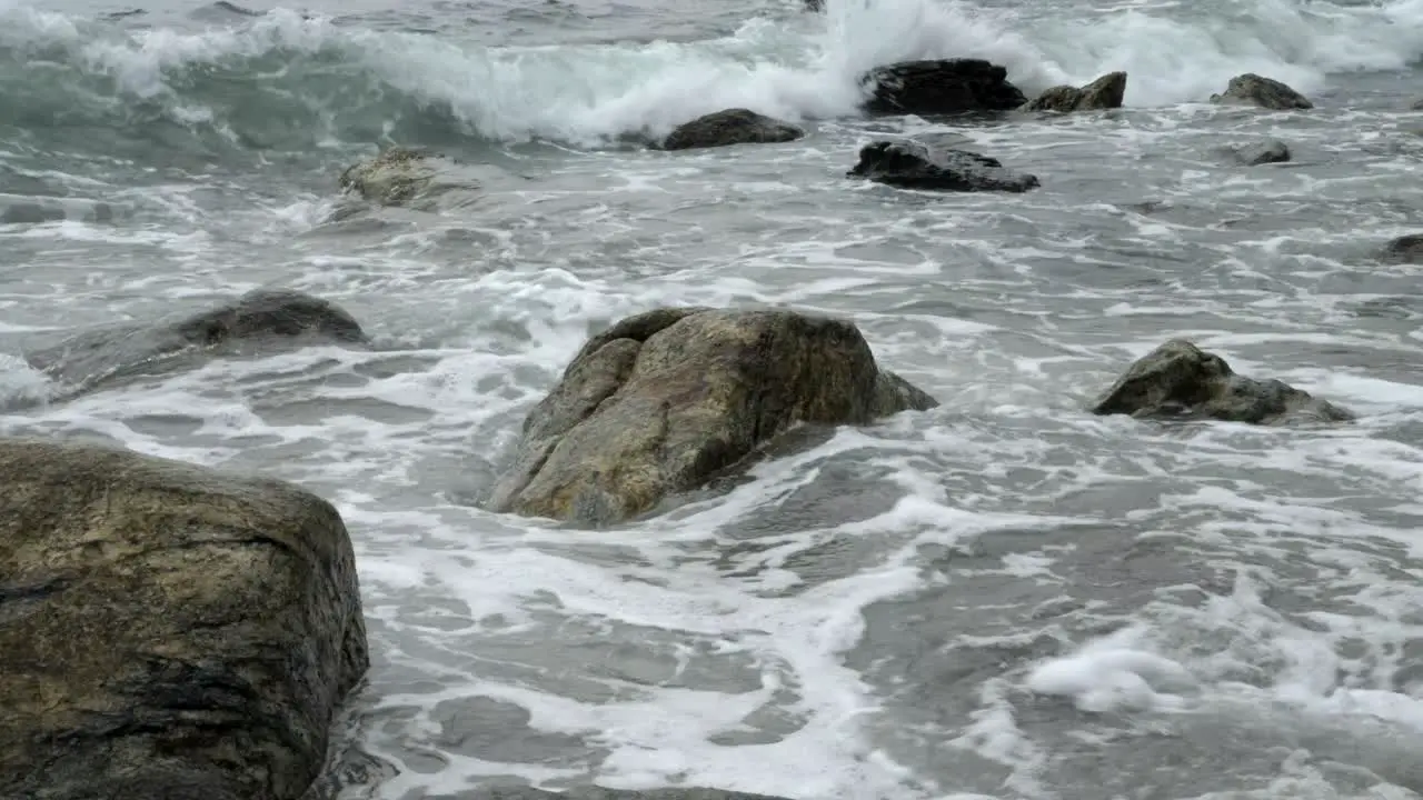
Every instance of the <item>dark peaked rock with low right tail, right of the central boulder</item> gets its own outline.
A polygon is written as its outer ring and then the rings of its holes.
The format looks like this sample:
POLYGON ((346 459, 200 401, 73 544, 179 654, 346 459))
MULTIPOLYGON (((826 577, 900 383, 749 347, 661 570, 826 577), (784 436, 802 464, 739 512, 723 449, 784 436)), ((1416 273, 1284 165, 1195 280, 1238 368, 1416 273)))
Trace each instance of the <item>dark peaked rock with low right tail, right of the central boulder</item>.
POLYGON ((1225 359, 1184 339, 1173 339, 1131 364, 1091 411, 1257 424, 1353 419, 1284 381, 1235 374, 1225 359))

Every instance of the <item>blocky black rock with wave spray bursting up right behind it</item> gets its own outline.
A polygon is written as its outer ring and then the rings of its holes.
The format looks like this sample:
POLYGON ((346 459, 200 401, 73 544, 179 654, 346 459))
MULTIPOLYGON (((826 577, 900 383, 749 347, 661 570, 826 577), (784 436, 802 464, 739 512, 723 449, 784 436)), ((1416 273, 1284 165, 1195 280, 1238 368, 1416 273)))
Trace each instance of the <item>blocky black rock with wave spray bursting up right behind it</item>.
POLYGON ((861 75, 872 114, 966 114, 1009 111, 1027 101, 1007 70, 980 58, 902 61, 861 75))

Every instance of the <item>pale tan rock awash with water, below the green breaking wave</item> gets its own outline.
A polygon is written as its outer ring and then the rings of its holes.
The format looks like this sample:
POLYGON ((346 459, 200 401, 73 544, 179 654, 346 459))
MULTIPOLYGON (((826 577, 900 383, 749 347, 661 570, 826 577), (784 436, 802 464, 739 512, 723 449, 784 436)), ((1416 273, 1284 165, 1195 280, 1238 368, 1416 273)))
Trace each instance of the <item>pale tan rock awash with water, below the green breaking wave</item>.
POLYGON ((342 172, 340 186, 376 205, 440 212, 478 201, 485 182, 498 174, 490 165, 393 147, 342 172))

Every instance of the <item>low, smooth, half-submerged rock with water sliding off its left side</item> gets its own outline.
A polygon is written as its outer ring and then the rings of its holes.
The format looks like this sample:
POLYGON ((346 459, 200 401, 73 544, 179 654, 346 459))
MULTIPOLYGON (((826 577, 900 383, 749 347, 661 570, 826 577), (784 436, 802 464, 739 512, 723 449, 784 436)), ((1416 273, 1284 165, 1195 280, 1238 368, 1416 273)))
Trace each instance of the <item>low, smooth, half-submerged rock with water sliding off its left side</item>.
POLYGON ((363 346, 369 340, 360 323, 332 302, 286 289, 258 289, 175 322, 88 330, 31 350, 26 359, 78 391, 122 377, 196 366, 212 356, 322 343, 363 346))

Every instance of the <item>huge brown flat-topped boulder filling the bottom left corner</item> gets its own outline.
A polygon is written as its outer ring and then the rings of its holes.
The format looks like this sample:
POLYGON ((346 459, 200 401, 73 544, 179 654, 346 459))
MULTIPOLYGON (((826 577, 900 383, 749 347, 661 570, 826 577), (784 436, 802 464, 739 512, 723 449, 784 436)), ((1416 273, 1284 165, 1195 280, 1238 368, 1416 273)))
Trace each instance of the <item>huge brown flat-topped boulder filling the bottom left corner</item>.
POLYGON ((91 444, 0 483, 0 797, 302 797, 367 668, 337 511, 91 444))

